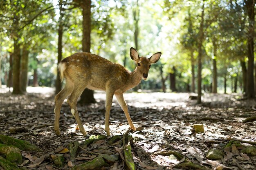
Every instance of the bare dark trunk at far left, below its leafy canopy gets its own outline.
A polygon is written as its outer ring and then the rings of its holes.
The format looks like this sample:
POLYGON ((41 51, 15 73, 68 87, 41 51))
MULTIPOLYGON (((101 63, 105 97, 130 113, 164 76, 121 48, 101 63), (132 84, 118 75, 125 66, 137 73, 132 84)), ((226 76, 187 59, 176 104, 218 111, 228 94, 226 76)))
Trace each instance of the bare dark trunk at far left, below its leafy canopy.
POLYGON ((14 38, 13 52, 13 94, 22 94, 20 88, 20 44, 18 38, 14 38))

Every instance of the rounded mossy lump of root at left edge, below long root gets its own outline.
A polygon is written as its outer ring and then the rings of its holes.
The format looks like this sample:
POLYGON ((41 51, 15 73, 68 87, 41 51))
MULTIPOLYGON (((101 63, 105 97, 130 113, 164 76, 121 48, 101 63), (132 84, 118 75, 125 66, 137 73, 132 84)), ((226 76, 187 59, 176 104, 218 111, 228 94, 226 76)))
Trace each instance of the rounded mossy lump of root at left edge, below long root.
POLYGON ((21 152, 15 146, 0 144, 0 154, 4 155, 8 161, 22 163, 21 152))

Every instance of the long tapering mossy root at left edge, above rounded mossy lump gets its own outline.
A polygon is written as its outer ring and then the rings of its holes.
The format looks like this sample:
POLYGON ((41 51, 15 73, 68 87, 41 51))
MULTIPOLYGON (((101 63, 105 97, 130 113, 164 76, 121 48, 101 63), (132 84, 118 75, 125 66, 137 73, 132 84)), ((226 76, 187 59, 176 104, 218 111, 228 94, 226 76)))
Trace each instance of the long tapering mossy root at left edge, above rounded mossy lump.
POLYGON ((34 150, 34 151, 40 151, 41 149, 37 146, 30 144, 27 141, 15 139, 6 135, 0 135, 0 143, 5 145, 13 145, 19 148, 20 150, 34 150))

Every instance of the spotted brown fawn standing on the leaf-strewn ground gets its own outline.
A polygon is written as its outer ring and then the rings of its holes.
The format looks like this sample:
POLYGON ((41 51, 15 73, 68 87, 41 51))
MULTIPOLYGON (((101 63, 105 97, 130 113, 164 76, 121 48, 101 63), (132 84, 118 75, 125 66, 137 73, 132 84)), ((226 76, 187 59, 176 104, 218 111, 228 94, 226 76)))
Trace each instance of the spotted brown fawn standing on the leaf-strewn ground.
POLYGON ((156 63, 161 54, 161 52, 155 53, 150 58, 139 57, 136 49, 130 48, 130 57, 137 65, 132 72, 126 70, 120 64, 112 63, 92 53, 75 53, 63 59, 58 64, 58 69, 60 71, 61 81, 65 77, 66 85, 55 96, 54 130, 56 131, 56 135, 61 134, 59 130, 61 105, 64 99, 70 95, 67 103, 70 105, 71 113, 75 117, 83 136, 89 136, 83 128, 76 109, 77 99, 85 88, 106 91, 105 130, 108 136, 110 135, 109 115, 113 95, 116 96, 117 101, 124 110, 130 128, 136 130, 128 113, 123 93, 137 86, 141 79, 147 79, 151 64, 156 63))

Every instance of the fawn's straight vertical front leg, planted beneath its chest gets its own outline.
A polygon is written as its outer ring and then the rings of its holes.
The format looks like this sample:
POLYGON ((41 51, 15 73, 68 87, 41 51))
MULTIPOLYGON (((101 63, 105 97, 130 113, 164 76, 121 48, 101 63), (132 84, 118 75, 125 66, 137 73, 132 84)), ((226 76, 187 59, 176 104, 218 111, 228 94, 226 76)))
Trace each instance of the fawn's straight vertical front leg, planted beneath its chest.
POLYGON ((108 136, 110 136, 109 115, 110 115, 110 108, 112 105, 113 95, 114 95, 114 93, 111 91, 106 92, 105 130, 106 130, 108 136))

